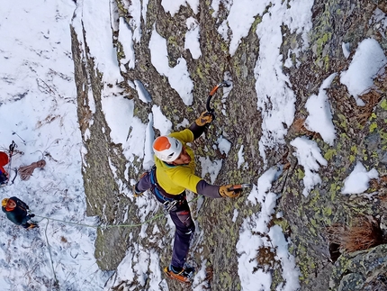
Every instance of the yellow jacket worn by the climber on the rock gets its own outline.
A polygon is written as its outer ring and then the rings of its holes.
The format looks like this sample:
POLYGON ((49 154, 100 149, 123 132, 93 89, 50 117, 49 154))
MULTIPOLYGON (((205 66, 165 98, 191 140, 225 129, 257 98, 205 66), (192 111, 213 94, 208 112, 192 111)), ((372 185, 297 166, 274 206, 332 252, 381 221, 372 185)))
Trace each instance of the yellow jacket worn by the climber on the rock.
POLYGON ((195 162, 193 150, 186 145, 187 142, 193 141, 193 132, 189 129, 185 129, 181 132, 173 132, 169 134, 169 136, 174 137, 176 140, 183 143, 185 150, 191 157, 191 161, 188 165, 174 166, 157 159, 155 156, 158 185, 170 195, 179 195, 185 189, 197 193, 196 186, 199 181, 202 180, 202 177, 194 175, 195 162))

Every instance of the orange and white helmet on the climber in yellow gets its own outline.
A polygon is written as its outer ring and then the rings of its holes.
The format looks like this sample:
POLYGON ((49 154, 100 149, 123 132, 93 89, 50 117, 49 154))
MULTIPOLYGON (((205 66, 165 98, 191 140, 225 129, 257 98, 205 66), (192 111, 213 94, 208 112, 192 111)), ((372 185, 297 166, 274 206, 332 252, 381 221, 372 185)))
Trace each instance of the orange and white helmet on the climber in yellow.
POLYGON ((156 157, 166 162, 177 159, 182 149, 182 142, 170 136, 160 136, 153 142, 156 157))

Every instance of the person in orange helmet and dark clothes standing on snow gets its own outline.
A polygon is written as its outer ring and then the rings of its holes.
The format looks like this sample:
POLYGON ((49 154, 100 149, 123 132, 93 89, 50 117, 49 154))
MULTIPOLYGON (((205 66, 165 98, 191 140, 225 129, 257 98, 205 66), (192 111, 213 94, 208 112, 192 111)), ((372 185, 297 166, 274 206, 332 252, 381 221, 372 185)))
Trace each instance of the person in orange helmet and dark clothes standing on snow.
POLYGON ((3 212, 6 217, 23 228, 31 229, 39 227, 37 223, 28 223, 35 214, 29 214, 30 207, 17 197, 4 198, 1 202, 3 212))

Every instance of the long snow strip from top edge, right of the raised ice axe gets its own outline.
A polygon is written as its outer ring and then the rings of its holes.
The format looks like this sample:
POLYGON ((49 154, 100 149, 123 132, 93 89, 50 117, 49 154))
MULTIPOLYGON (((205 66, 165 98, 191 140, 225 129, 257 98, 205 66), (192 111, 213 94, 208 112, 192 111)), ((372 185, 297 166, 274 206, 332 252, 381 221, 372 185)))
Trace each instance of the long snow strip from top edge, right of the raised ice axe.
MULTIPOLYGON (((281 28, 289 25, 291 32, 301 33, 303 38, 311 29, 311 5, 313 1, 270 1, 268 12, 257 25, 259 38, 259 56, 254 69, 257 79, 257 109, 261 112, 262 137, 259 141, 259 153, 266 161, 266 149, 274 149, 284 143, 284 135, 294 118, 295 95, 289 77, 283 72, 284 56, 280 54, 283 42, 281 28), (288 5, 291 8, 288 9, 288 5)), ((266 3, 268 4, 268 3, 266 3)), ((249 9, 246 7, 245 9, 249 9)), ((304 40, 304 47, 307 46, 304 40)), ((295 48, 298 53, 302 48, 295 48)))

